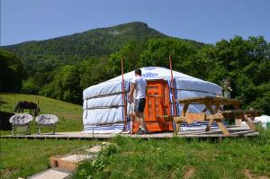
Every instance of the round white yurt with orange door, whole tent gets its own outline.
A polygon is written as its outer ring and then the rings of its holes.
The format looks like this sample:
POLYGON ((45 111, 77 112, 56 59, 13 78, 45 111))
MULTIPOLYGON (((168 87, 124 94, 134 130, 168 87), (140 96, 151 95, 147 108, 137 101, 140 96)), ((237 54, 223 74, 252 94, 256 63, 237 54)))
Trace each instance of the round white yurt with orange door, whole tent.
MULTIPOLYGON (((140 69, 148 84, 144 111, 145 121, 148 130, 153 132, 174 129, 173 122, 166 121, 164 116, 180 115, 183 105, 174 104, 173 97, 176 100, 222 94, 219 85, 171 71, 165 67, 142 67, 140 69)), ((130 82, 134 76, 134 71, 131 71, 84 90, 84 132, 121 133, 123 130, 130 130, 130 117, 126 112, 126 104, 128 103, 127 94, 130 91, 130 82)), ((205 106, 202 104, 192 104, 189 106, 188 112, 202 112, 204 108, 205 106)), ((183 123, 181 130, 202 129, 206 125, 205 122, 183 123)), ((214 123, 212 127, 215 125, 214 123)), ((133 132, 136 132, 138 128, 139 126, 135 124, 133 132)))

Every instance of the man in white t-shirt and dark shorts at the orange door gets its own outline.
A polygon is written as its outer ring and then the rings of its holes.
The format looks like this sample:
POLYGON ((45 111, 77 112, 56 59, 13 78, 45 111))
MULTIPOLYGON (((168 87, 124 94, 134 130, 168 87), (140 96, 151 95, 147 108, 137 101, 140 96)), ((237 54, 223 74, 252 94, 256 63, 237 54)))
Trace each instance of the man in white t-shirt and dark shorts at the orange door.
POLYGON ((146 128, 146 124, 144 121, 144 108, 146 103, 146 80, 141 76, 141 70, 135 70, 135 77, 131 82, 131 88, 129 93, 129 102, 132 103, 134 101, 133 93, 136 90, 135 94, 135 107, 134 112, 136 117, 139 119, 139 131, 138 134, 147 134, 148 130, 146 128))

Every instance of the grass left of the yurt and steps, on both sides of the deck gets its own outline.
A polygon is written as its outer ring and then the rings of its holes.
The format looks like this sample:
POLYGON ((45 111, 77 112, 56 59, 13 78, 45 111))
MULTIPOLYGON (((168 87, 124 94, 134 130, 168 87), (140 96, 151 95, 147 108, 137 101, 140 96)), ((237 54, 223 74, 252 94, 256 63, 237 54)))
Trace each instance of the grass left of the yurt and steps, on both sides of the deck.
MULTIPOLYGON (((82 106, 60 102, 47 97, 39 97, 40 113, 50 113, 58 116, 57 131, 82 130, 82 106)), ((0 94, 0 111, 14 112, 19 101, 36 102, 36 95, 0 94)), ((29 112, 25 110, 24 112, 29 112)), ((32 128, 32 123, 31 123, 32 128)), ((22 133, 23 130, 21 129, 22 133)), ((34 131, 31 129, 31 131, 34 131)), ((37 131, 35 129, 35 131, 37 131)), ((44 132, 50 129, 42 130, 44 132)), ((11 131, 0 130, 1 135, 11 134, 11 131)), ((34 175, 49 167, 49 157, 77 152, 81 148, 90 147, 94 141, 86 140, 0 140, 0 178, 18 178, 34 175)))

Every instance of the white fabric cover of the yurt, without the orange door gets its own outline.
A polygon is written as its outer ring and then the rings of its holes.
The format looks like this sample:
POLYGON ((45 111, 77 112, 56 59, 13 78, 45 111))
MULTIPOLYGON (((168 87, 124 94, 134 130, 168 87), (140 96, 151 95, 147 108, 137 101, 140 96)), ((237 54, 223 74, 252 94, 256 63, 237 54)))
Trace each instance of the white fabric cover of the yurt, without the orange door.
MULTIPOLYGON (((142 67, 142 76, 148 79, 165 79, 171 86, 171 71, 165 67, 142 67)), ((134 77, 134 71, 124 74, 124 91, 129 92, 130 81, 134 77)), ((219 85, 203 81, 193 76, 187 76, 173 71, 175 80, 175 98, 185 99, 198 96, 216 96, 222 94, 219 85)), ((83 123, 85 132, 121 132, 123 130, 123 100, 121 94, 122 77, 117 76, 98 85, 86 88, 83 92, 84 114, 83 123)), ((172 101, 172 92, 170 100, 172 101)), ((127 99, 127 98, 125 98, 127 99)), ((183 106, 177 104, 177 114, 180 114, 183 106)), ((202 112, 203 105, 190 105, 189 112, 202 112)), ((173 109, 173 108, 171 108, 173 109)), ((172 111, 174 114, 174 112, 172 111)), ((206 122, 194 122, 182 125, 182 130, 204 129, 206 122)), ((216 124, 213 124, 215 127, 216 124)), ((129 125, 127 125, 129 128, 129 125)))

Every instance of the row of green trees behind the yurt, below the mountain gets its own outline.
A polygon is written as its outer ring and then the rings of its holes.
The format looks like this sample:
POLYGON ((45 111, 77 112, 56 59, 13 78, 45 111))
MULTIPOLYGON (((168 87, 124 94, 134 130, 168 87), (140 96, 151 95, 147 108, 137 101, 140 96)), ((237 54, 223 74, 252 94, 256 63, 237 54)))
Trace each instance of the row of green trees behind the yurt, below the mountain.
POLYGON ((169 55, 175 71, 218 85, 229 78, 231 96, 242 100, 244 108, 270 114, 270 43, 262 36, 247 40, 236 36, 199 47, 176 38, 132 40, 110 55, 88 57, 74 64, 52 67, 53 63, 40 61, 31 74, 14 53, 1 49, 0 90, 82 103, 86 87, 121 75, 121 58, 124 71, 129 72, 137 67, 169 67, 169 55))

